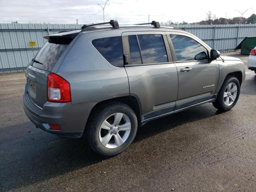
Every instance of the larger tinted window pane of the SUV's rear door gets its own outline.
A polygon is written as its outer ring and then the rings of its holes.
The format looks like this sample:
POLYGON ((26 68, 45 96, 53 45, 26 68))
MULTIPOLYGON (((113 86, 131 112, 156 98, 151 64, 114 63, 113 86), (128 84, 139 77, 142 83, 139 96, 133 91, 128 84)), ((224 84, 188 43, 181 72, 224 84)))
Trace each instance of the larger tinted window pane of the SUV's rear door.
POLYGON ((143 64, 168 62, 162 35, 138 35, 143 64))

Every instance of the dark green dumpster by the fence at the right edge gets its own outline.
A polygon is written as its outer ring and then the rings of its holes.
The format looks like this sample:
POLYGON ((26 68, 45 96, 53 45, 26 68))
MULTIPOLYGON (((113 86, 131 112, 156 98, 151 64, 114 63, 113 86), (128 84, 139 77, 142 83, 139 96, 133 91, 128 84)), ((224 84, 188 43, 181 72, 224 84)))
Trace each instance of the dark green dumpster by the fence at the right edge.
POLYGON ((241 49, 242 55, 250 55, 250 51, 256 47, 256 36, 246 37, 236 47, 236 50, 241 49))

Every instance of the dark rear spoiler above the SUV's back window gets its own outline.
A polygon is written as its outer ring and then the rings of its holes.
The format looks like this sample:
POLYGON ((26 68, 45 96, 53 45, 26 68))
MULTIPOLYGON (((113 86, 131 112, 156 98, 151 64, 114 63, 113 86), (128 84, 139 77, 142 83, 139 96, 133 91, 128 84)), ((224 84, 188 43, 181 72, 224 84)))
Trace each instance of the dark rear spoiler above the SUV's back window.
POLYGON ((44 36, 49 43, 54 44, 70 44, 70 42, 80 33, 80 30, 61 31, 57 34, 44 36))

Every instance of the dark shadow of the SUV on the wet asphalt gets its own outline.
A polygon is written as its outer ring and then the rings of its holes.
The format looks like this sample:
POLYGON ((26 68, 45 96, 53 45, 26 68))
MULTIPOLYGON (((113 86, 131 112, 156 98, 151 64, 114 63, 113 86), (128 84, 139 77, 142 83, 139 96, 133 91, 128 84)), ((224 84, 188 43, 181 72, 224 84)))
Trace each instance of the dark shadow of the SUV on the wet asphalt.
MULTIPOLYGON (((138 128, 134 142, 220 113, 206 104, 148 122, 138 128)), ((8 128, 27 130, 34 126, 25 122, 8 128)), ((39 129, 1 144, 2 190, 28 186, 109 159, 95 154, 84 139, 60 138, 39 129)))

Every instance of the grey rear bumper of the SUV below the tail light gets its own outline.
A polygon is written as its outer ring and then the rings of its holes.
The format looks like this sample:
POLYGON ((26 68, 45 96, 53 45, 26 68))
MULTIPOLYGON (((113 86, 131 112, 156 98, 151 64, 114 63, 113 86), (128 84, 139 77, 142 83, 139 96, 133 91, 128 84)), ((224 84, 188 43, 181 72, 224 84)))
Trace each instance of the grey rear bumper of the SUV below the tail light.
POLYGON ((80 104, 46 102, 40 108, 29 98, 28 92, 23 95, 24 112, 38 128, 53 134, 80 138, 86 121, 95 102, 80 104), (60 125, 60 130, 51 130, 48 124, 60 125))

